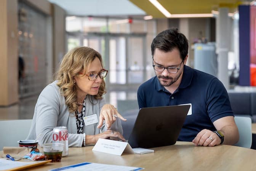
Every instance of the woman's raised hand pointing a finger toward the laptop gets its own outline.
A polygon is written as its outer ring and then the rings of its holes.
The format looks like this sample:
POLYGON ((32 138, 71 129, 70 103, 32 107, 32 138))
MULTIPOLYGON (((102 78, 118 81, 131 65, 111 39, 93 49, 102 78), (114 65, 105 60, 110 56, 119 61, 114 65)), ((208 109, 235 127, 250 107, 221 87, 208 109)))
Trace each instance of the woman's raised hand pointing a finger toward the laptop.
POLYGON ((102 109, 101 113, 99 115, 99 125, 97 128, 101 128, 103 125, 103 120, 106 122, 107 129, 110 129, 110 126, 115 122, 116 117, 122 119, 123 121, 126 121, 125 118, 118 113, 117 109, 112 104, 105 104, 102 109))

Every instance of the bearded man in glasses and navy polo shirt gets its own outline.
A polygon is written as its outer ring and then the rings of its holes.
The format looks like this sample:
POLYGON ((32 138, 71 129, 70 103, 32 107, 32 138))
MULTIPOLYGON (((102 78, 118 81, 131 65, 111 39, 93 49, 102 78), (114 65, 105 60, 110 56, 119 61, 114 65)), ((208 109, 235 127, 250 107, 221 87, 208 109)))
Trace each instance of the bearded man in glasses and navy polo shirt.
POLYGON ((156 76, 139 87, 139 108, 191 104, 192 113, 178 141, 192 141, 195 146, 233 145, 239 134, 227 91, 216 77, 186 66, 188 47, 178 29, 167 29, 154 38, 156 76))

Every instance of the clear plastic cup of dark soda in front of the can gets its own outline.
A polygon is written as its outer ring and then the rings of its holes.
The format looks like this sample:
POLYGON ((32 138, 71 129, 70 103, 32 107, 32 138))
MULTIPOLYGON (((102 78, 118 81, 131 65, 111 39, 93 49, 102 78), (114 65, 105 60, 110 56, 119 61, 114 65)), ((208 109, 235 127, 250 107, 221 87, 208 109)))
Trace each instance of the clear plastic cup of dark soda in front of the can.
POLYGON ((46 160, 51 162, 61 161, 64 144, 62 143, 46 143, 43 144, 43 153, 46 155, 46 160))

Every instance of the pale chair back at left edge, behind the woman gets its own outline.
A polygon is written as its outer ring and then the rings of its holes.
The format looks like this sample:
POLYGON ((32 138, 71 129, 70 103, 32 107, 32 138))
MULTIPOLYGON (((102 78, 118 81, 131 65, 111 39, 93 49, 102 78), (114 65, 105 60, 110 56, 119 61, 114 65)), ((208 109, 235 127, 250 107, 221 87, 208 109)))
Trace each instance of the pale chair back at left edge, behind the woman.
POLYGON ((18 147, 17 141, 24 140, 29 134, 32 119, 0 120, 0 150, 3 147, 18 147))

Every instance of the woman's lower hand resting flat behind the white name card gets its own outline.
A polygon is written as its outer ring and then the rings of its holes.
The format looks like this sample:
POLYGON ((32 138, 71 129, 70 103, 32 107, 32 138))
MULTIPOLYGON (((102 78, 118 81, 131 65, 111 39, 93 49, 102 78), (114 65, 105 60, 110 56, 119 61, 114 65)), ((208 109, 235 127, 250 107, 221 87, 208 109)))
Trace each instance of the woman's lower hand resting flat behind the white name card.
POLYGON ((98 141, 99 138, 103 139, 114 139, 125 141, 125 138, 117 131, 107 130, 104 133, 94 135, 94 144, 98 141))

